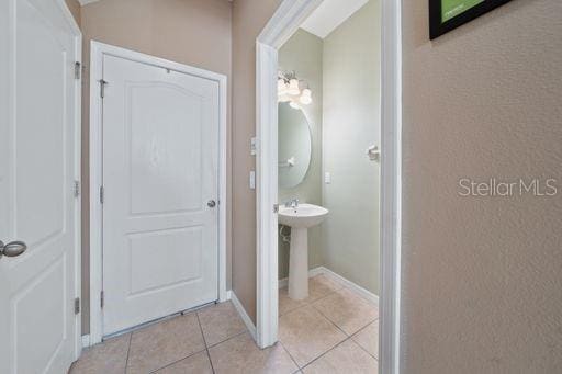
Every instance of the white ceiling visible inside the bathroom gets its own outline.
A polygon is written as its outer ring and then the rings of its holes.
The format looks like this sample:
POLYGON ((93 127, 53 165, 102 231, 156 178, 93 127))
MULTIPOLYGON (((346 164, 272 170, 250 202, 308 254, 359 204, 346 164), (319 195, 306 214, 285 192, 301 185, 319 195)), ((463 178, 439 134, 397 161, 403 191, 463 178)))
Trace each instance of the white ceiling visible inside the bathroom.
POLYGON ((301 25, 307 32, 325 38, 369 0, 324 0, 301 25))

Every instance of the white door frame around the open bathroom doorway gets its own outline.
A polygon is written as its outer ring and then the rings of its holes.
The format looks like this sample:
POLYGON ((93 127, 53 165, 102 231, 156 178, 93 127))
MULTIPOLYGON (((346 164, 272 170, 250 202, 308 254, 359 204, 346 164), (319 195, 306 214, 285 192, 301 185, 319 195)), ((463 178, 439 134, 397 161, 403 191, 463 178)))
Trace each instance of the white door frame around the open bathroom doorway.
MULTIPOLYGON (((257 342, 278 333, 278 49, 323 0, 284 0, 256 41, 257 342)), ((381 297, 380 372, 400 373, 402 191, 402 33, 400 1, 381 0, 381 297)))

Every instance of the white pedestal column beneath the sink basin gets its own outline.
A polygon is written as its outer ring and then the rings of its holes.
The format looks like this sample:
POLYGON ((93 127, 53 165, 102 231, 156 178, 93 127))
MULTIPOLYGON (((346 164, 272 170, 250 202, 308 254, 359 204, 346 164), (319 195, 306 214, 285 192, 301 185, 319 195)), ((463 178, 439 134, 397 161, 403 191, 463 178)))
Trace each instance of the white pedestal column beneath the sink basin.
POLYGON ((289 252, 289 297, 308 297, 308 229, 291 228, 289 252))

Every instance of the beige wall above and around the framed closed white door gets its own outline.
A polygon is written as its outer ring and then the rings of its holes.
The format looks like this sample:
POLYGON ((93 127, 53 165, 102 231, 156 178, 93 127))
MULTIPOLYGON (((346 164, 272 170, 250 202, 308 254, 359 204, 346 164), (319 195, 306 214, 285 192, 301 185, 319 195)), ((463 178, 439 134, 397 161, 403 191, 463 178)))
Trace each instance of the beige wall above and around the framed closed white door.
MULTIPOLYGON (((94 39, 226 75, 231 91, 231 11, 232 5, 225 0, 102 0, 90 3, 81 9, 83 63, 88 68, 90 41, 94 39)), ((89 69, 83 75, 82 91, 82 297, 85 304, 82 331, 85 333, 89 331, 88 77, 89 69)), ((227 143, 231 144, 229 124, 227 143)), ((227 172, 227 184, 231 185, 231 163, 227 172)), ((227 192, 227 203, 232 201, 231 192, 231 190, 227 192)), ((231 211, 227 214, 229 218, 231 211)), ((232 237, 229 223, 231 219, 227 224, 228 286, 231 285, 229 239, 232 237)))

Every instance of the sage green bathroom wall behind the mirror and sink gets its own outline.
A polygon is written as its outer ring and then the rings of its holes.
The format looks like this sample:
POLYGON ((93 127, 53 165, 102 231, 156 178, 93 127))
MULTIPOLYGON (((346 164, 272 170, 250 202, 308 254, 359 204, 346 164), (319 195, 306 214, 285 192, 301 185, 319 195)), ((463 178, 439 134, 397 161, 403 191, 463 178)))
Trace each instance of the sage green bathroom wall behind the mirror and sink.
MULTIPOLYGON (((308 171, 301 184, 292 189, 279 189, 279 202, 299 199, 302 203, 322 205, 322 53, 323 41, 302 29, 279 49, 279 68, 296 71, 313 92, 313 102, 303 105, 308 118, 312 137, 312 158, 308 171)), ((281 139, 279 141, 282 141, 281 139)), ((308 230, 308 268, 322 262, 321 226, 308 230)), ((279 240, 279 279, 289 276, 289 243, 279 240)))

